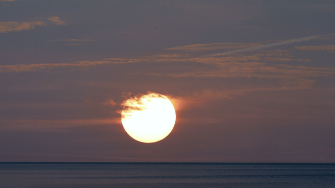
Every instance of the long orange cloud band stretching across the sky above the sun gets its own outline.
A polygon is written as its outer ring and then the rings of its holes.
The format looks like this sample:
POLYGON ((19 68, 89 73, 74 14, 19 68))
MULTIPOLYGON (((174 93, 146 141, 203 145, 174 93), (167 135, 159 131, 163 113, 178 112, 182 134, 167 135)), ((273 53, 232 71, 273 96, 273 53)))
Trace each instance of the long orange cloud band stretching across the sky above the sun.
MULTIPOLYGON (((185 71, 177 71, 178 73, 165 72, 164 75, 173 77, 180 76, 195 76, 195 77, 237 77, 237 76, 256 76, 256 77, 309 77, 322 76, 334 74, 334 69, 328 68, 311 68, 304 66, 289 66, 289 65, 267 65, 262 61, 293 61, 296 59, 291 57, 289 51, 273 50, 261 51, 259 54, 232 54, 228 57, 199 57, 199 58, 185 58, 189 55, 167 54, 154 55, 145 59, 122 59, 122 58, 106 58, 103 61, 80 61, 75 63, 61 63, 61 64, 30 64, 30 65, 3 65, 0 66, 0 72, 11 71, 39 71, 45 69, 53 69, 56 67, 90 67, 105 64, 124 64, 124 63, 155 63, 155 62, 190 62, 190 63, 204 63, 212 64, 211 69, 198 69, 196 67, 185 71)), ((308 61, 297 59, 296 61, 308 61)), ((163 73, 155 72, 141 72, 151 75, 163 75, 163 73)))

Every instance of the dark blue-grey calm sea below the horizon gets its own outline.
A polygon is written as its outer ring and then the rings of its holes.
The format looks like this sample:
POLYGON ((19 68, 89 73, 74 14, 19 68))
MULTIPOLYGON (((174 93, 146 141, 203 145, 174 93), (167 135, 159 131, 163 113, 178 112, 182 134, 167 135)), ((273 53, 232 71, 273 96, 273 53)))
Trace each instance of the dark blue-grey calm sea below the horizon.
POLYGON ((0 163, 0 188, 335 188, 335 164, 0 163))

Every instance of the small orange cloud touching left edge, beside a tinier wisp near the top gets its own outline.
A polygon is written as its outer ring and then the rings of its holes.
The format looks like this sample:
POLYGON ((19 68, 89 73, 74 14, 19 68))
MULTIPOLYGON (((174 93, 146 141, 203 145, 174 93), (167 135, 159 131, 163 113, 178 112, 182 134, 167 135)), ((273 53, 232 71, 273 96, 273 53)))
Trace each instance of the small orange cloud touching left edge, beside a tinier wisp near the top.
POLYGON ((0 33, 6 33, 9 31, 22 31, 35 29, 35 25, 46 25, 44 22, 31 21, 31 22, 0 22, 0 33))

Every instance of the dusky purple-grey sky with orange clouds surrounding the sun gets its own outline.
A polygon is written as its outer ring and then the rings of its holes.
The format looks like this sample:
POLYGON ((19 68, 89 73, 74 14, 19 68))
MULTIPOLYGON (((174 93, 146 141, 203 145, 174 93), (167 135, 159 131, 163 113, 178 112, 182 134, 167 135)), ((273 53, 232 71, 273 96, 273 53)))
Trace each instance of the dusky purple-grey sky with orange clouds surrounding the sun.
POLYGON ((1 162, 335 163, 334 0, 0 0, 1 162), (132 139, 123 104, 176 110, 132 139))

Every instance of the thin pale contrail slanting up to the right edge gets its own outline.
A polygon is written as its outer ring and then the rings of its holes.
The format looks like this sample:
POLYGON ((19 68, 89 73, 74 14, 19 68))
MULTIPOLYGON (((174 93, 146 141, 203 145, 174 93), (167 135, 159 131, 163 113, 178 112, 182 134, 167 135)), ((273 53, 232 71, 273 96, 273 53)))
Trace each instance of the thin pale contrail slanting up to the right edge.
POLYGON ((266 48, 266 47, 276 47, 276 46, 280 46, 280 45, 287 45, 287 44, 291 44, 291 43, 309 41, 309 40, 312 40, 312 39, 317 39, 319 37, 328 37, 328 36, 331 36, 331 35, 334 35, 334 34, 335 33, 331 33, 331 34, 327 34, 327 35, 313 35, 313 36, 299 38, 299 39, 290 39, 290 40, 282 41, 282 42, 278 42, 278 43, 271 43, 271 44, 266 44, 266 45, 261 45, 261 46, 256 46, 256 47, 246 47, 246 48, 231 50, 231 51, 227 51, 227 52, 223 52, 223 53, 215 53, 215 54, 211 54, 211 55, 205 55, 203 57, 214 57, 214 56, 219 56, 219 55, 227 55, 227 54, 239 53, 239 52, 243 52, 243 51, 262 49, 262 48, 266 48))

